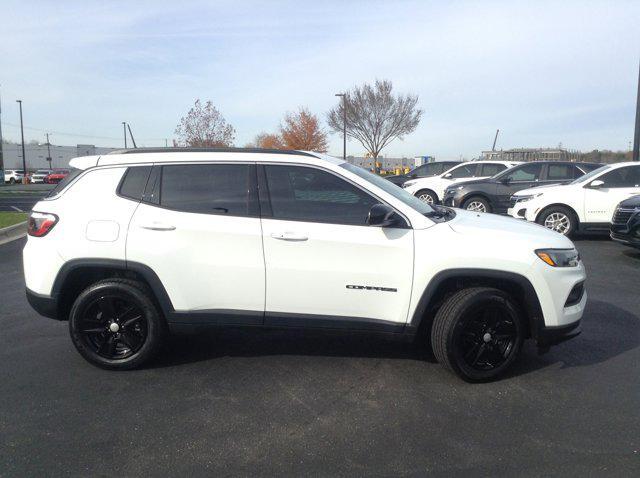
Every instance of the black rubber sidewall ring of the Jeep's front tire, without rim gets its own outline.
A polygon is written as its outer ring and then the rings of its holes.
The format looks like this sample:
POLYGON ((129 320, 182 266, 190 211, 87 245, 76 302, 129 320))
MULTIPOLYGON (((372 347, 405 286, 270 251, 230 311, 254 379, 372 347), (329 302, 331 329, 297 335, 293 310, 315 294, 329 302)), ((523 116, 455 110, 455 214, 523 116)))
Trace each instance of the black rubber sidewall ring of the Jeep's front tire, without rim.
POLYGON ((514 304, 506 294, 500 291, 484 291, 469 298, 459 311, 455 325, 451 327, 447 334, 447 356, 451 367, 459 376, 468 382, 486 382, 502 375, 518 357, 522 344, 524 343, 526 329, 522 317, 522 313, 516 304, 514 304), (482 309, 489 304, 500 305, 505 308, 505 312, 508 311, 514 320, 517 337, 509 357, 503 364, 491 370, 476 370, 465 363, 461 356, 461 351, 457 347, 457 340, 461 331, 464 330, 467 321, 470 320, 472 312, 475 309, 482 309))

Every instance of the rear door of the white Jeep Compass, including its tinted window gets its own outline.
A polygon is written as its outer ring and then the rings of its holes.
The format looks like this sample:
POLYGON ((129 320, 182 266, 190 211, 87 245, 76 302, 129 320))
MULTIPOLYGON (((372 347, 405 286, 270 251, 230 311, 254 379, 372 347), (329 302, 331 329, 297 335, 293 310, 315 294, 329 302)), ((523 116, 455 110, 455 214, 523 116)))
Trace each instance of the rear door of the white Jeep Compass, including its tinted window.
POLYGON ((127 261, 150 267, 182 320, 262 323, 255 165, 155 166, 129 226, 127 261))

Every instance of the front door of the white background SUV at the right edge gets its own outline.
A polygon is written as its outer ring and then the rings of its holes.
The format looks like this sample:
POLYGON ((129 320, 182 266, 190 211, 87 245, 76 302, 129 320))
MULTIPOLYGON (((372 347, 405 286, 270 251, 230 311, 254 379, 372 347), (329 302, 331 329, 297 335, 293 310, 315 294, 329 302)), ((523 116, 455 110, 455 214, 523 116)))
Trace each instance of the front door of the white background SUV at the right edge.
POLYGON ((584 216, 588 223, 610 223, 621 201, 640 194, 640 165, 613 169, 589 181, 584 187, 584 216), (591 187, 593 181, 603 181, 591 187))

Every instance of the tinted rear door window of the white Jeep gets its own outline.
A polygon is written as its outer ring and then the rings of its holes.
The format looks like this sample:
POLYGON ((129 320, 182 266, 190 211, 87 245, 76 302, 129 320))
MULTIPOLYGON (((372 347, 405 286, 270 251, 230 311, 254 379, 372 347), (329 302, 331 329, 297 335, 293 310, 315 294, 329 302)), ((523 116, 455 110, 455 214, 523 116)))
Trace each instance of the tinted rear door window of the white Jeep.
POLYGON ((160 205, 177 211, 247 216, 249 189, 246 164, 163 166, 160 205))

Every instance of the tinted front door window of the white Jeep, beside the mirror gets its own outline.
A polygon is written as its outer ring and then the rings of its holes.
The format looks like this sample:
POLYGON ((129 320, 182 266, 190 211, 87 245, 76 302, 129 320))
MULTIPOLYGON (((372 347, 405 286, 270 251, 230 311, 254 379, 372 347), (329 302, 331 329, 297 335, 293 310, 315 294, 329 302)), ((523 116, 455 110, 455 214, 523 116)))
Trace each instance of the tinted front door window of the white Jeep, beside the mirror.
POLYGON ((364 226, 379 201, 351 183, 315 168, 265 166, 275 219, 364 226))

